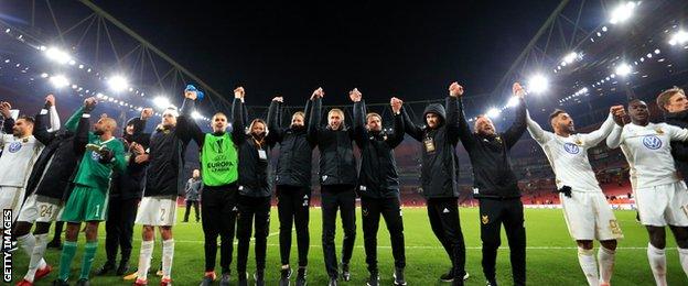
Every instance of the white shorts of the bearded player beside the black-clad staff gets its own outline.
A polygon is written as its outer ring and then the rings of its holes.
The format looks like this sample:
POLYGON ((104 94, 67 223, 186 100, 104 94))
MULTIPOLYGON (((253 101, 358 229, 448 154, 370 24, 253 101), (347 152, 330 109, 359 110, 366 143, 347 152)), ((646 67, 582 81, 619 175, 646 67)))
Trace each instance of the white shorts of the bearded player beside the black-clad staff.
POLYGON ((602 193, 571 191, 559 194, 563 218, 573 240, 619 240, 623 233, 602 193))

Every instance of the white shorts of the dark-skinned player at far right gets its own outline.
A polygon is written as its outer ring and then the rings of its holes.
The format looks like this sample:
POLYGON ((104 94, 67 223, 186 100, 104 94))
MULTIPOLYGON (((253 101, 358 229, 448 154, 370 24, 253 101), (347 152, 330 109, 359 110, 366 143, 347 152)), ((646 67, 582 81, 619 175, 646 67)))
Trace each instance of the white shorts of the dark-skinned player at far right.
POLYGON ((688 227, 688 190, 677 183, 634 190, 643 226, 688 227))

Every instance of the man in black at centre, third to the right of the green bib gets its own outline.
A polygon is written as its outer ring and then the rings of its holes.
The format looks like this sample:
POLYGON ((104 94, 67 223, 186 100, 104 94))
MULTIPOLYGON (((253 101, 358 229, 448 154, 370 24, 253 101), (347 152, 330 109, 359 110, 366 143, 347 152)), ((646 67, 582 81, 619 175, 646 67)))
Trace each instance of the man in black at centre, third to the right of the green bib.
POLYGON ((356 158, 354 157, 354 132, 344 124, 344 112, 331 109, 327 125, 321 127, 322 98, 325 92, 316 89, 312 96, 313 109, 309 119, 309 136, 316 139, 320 150, 320 186, 322 198, 322 245, 330 285, 337 285, 337 260, 334 248, 336 212, 342 211, 344 242, 342 243, 342 279, 350 280, 348 262, 356 239, 356 158))

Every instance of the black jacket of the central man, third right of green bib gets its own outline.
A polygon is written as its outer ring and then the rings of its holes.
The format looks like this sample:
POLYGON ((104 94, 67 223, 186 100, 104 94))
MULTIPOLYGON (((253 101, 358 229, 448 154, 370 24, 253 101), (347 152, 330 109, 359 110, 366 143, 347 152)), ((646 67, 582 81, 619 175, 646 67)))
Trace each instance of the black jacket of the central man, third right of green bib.
POLYGON ((354 132, 344 122, 338 130, 321 127, 322 99, 313 100, 308 133, 318 142, 320 150, 320 184, 355 186, 356 157, 354 157, 354 132))

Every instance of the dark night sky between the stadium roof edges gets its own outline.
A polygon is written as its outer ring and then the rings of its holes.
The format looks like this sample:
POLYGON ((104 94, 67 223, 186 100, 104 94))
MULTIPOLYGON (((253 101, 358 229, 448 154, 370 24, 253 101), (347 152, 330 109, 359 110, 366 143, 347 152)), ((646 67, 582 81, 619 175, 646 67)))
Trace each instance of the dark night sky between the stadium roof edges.
POLYGON ((95 2, 221 92, 243 85, 249 105, 300 105, 319 86, 326 103, 353 87, 368 102, 444 97, 452 80, 490 92, 558 4, 95 2))

